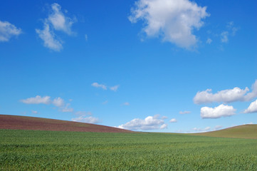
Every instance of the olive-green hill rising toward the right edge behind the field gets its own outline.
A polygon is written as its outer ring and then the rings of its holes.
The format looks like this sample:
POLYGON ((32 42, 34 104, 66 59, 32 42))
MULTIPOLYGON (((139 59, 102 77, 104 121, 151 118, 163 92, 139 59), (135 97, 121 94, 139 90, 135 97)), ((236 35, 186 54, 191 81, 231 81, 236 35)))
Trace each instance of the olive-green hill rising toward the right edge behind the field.
POLYGON ((195 133, 193 135, 203 135, 209 137, 222 137, 222 138, 251 138, 257 139, 257 125, 239 125, 224 130, 216 130, 207 133, 195 133))

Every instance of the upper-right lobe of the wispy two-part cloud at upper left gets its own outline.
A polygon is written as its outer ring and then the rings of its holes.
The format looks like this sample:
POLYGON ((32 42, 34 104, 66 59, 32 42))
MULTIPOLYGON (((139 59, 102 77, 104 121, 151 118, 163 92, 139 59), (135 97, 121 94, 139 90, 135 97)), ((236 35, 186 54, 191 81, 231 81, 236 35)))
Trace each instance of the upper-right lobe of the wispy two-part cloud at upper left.
POLYGON ((71 34, 71 26, 76 21, 76 19, 70 19, 65 16, 61 11, 61 6, 59 4, 52 4, 51 14, 48 16, 48 21, 53 25, 53 28, 57 31, 63 31, 65 33, 71 34))

